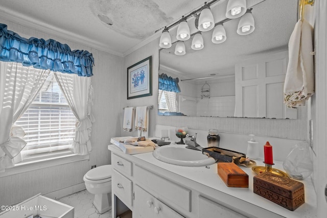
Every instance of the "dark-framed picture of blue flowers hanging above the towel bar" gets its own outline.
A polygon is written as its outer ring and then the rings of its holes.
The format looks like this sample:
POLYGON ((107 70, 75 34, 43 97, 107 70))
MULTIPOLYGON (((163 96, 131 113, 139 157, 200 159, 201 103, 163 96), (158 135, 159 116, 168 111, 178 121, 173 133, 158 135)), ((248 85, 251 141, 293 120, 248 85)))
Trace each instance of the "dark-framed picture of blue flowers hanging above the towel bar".
POLYGON ((127 68, 127 99, 152 95, 152 56, 127 68))

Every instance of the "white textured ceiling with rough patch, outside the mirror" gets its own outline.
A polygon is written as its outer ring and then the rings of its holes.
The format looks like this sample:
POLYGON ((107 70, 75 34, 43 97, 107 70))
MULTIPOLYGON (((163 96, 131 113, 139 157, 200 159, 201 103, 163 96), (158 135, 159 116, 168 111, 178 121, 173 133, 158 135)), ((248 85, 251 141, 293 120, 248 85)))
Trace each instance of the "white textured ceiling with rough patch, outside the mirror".
POLYGON ((124 56, 156 30, 203 4, 202 0, 0 0, 0 17, 124 56))

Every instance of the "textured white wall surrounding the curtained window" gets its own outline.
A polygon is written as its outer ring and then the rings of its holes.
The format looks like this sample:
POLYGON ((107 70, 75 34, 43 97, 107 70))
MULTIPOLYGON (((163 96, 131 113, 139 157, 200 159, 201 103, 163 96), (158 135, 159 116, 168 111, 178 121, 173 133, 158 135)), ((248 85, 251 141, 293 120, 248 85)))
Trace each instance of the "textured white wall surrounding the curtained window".
POLYGON ((123 68, 123 57, 80 45, 73 42, 73 39, 68 41, 34 31, 8 20, 0 19, 0 23, 8 25, 8 30, 22 37, 52 38, 66 43, 72 50, 87 50, 95 59, 94 76, 91 82, 95 94, 92 113, 96 121, 93 123, 91 134, 90 159, 0 178, 0 205, 12 205, 40 192, 45 194, 83 183, 83 176, 91 165, 100 166, 111 162, 107 145, 111 137, 121 134, 118 128, 121 122, 117 119, 117 114, 122 112, 122 108, 121 98, 117 98, 117 94, 126 92, 126 69, 123 68))

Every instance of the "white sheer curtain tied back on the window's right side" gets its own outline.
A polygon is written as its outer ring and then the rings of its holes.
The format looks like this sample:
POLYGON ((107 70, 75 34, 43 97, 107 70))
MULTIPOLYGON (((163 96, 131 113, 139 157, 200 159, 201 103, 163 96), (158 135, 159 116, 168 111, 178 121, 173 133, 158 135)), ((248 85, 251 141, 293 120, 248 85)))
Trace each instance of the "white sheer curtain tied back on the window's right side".
POLYGON ((90 136, 92 122, 94 122, 91 114, 93 98, 91 78, 67 73, 55 73, 55 76, 68 105, 77 118, 72 149, 79 155, 89 154, 92 149, 90 136))

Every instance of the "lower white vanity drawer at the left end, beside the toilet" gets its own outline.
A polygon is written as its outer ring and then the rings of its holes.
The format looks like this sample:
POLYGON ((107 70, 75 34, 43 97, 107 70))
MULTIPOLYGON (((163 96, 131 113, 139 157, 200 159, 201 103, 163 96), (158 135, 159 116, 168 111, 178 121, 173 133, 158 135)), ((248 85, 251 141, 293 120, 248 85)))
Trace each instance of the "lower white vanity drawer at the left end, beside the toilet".
POLYGON ((129 208, 132 206, 132 181, 116 170, 112 170, 112 192, 129 208))

